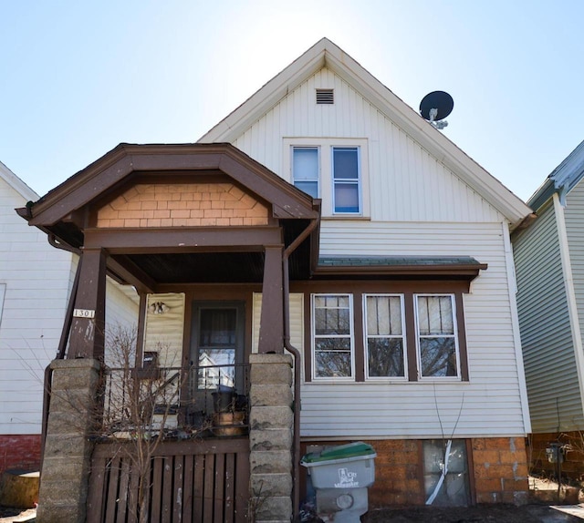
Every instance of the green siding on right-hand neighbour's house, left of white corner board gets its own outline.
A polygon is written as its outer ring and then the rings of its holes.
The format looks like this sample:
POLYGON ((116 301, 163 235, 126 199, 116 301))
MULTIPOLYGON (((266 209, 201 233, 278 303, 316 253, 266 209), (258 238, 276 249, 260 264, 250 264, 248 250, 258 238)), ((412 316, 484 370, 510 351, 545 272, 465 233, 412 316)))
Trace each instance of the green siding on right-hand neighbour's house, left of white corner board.
POLYGON ((539 433, 570 430, 582 421, 556 220, 548 205, 514 242, 529 411, 539 433))

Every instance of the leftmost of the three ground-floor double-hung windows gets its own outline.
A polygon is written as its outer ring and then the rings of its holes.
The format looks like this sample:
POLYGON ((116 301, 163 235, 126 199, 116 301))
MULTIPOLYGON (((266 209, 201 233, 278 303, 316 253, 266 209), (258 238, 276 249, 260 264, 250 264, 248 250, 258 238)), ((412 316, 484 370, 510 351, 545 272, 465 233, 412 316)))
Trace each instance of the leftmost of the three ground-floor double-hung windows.
POLYGON ((350 294, 313 294, 313 376, 352 378, 353 329, 350 294))

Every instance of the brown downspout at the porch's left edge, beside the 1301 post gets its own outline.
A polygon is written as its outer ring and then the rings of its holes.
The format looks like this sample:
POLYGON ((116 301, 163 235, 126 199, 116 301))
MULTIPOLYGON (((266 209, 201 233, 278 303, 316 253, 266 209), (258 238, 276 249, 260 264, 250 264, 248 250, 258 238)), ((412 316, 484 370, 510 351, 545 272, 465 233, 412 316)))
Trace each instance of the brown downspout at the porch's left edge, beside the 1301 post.
MULTIPOLYGON (((73 254, 81 254, 80 249, 71 247, 66 243, 60 243, 56 240, 55 234, 49 232, 47 239, 50 245, 56 249, 61 249, 62 251, 68 251, 73 254)), ((67 348, 68 334, 71 330, 71 323, 73 323, 73 308, 75 307, 75 298, 77 297, 78 286, 79 286, 79 273, 80 273, 81 263, 78 263, 77 270, 75 272, 75 280, 73 280, 73 288, 71 289, 71 295, 69 296, 69 303, 67 306, 67 312, 65 313, 65 324, 63 325, 63 330, 61 331, 61 338, 58 342, 57 349, 57 360, 62 360, 65 358, 65 350, 67 348)), ((48 409, 51 401, 51 384, 53 382, 53 369, 51 365, 48 364, 45 369, 45 382, 43 386, 43 415, 41 419, 41 439, 40 439, 40 466, 42 472, 43 459, 45 456, 45 443, 47 440, 47 423, 48 423, 48 409)))

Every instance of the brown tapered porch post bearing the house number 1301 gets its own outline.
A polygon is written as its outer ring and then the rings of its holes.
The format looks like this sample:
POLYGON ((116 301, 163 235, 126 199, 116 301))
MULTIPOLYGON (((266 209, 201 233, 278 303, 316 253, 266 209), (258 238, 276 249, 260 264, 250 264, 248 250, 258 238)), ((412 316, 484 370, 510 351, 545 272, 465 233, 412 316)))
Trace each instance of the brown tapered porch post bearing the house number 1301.
POLYGON ((101 249, 81 253, 79 288, 67 357, 102 358, 105 336, 106 255, 101 249))

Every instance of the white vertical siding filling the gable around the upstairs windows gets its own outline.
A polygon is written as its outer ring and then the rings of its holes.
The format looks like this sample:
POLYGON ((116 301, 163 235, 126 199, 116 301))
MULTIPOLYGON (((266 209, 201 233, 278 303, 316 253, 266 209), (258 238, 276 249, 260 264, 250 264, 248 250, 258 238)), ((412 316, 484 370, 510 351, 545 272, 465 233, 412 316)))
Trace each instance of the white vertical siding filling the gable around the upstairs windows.
MULTIPOLYGON (((235 147, 290 181, 282 138, 367 138, 372 220, 501 221, 484 199, 328 69, 322 69, 259 118, 235 147), (317 105, 316 88, 335 90, 317 105)), ((322 173, 329 182, 329 173, 322 173)), ((323 207, 325 209, 325 207, 323 207)))

